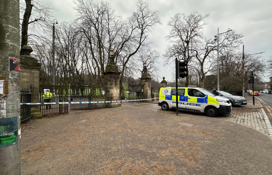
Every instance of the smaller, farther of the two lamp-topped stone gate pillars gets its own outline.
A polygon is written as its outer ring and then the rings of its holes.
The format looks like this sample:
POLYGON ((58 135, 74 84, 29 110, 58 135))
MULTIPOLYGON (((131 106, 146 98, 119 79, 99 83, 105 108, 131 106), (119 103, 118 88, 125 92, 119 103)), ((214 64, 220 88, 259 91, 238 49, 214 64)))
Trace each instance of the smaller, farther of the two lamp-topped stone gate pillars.
MULTIPOLYGON (((144 65, 146 65, 146 62, 144 62, 144 65)), ((144 70, 142 73, 141 78, 139 78, 141 81, 141 84, 143 85, 144 88, 144 99, 151 99, 151 76, 147 72, 146 66, 144 66, 144 70)), ((144 100, 144 102, 149 102, 152 100, 144 100)))

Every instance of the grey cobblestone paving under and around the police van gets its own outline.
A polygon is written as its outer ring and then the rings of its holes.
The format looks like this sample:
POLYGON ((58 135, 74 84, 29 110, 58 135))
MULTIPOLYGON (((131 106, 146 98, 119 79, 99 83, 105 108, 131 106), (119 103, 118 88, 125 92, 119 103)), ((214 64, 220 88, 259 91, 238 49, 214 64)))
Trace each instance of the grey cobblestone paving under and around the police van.
MULTIPOLYGON (((123 103, 122 105, 135 107, 135 108, 142 108, 142 109, 148 108, 150 110, 158 111, 158 112, 174 113, 174 110, 163 111, 160 108, 160 106, 158 106, 158 104, 156 103, 123 103)), ((181 112, 180 115, 182 115, 182 113, 186 113, 191 115, 206 116, 202 112, 192 112, 192 111, 186 111, 186 110, 180 110, 180 112, 181 112)), ((265 124, 264 114, 261 108, 258 108, 258 109, 233 108, 233 112, 231 114, 219 116, 216 118, 243 124, 251 128, 254 128, 256 130, 259 130, 265 134, 268 134, 267 125, 265 124)))

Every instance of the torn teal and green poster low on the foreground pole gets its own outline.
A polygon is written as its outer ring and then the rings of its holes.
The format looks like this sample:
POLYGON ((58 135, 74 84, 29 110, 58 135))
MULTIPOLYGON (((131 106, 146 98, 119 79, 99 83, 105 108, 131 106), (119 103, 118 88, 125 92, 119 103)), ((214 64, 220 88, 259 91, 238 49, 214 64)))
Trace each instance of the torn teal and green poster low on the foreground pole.
POLYGON ((17 143, 17 117, 0 118, 0 148, 17 143))

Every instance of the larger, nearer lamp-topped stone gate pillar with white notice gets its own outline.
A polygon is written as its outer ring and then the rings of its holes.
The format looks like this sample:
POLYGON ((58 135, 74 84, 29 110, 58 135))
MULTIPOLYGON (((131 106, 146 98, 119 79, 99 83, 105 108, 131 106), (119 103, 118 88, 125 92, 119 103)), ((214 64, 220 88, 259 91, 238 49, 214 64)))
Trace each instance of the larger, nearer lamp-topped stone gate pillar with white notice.
MULTIPOLYGON (((103 72, 105 81, 107 83, 107 101, 116 101, 120 97, 119 79, 120 72, 118 66, 115 65, 111 58, 111 62, 107 65, 105 72, 103 72)), ((115 108, 121 106, 120 102, 107 103, 108 108, 115 108)))

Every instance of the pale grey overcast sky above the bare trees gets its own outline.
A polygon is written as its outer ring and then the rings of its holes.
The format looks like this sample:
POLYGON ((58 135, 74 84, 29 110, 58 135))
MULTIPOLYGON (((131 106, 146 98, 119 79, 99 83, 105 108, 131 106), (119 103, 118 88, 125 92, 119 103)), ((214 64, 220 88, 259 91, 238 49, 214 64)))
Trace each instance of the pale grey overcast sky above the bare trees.
MULTIPOLYGON (((59 23, 70 21, 75 18, 73 10, 73 0, 42 0, 49 2, 55 8, 54 17, 59 23)), ((116 14, 126 18, 135 11, 137 0, 107 0, 110 2, 116 14)), ((210 14, 206 19, 208 23, 205 27, 205 34, 209 38, 214 38, 217 34, 227 31, 228 28, 242 33, 243 43, 246 51, 261 54, 263 59, 272 55, 272 1, 271 0, 147 0, 150 9, 159 11, 162 25, 156 27, 150 41, 153 48, 161 55, 164 53, 168 42, 165 36, 168 34, 167 25, 169 19, 175 13, 190 14, 198 11, 202 15, 210 14)), ((240 51, 243 45, 240 46, 240 51)), ((170 67, 163 67, 162 57, 157 65, 160 69, 159 77, 165 76, 166 81, 172 81, 172 70, 170 67)), ((264 81, 269 81, 267 75, 264 81)), ((159 78, 162 80, 162 78, 159 78)))

